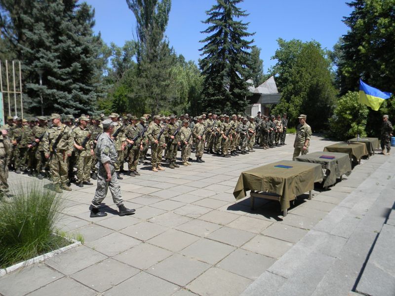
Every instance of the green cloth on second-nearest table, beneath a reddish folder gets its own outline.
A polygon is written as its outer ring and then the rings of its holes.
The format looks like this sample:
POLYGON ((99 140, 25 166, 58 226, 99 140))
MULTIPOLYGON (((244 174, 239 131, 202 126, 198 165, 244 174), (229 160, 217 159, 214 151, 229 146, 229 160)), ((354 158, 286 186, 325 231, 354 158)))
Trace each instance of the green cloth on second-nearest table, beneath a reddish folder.
POLYGON ((347 153, 317 151, 295 157, 295 160, 319 163, 326 170, 322 184, 324 187, 335 184, 336 178, 340 178, 343 174, 349 176, 352 171, 350 156, 347 153), (334 158, 329 159, 331 157, 334 158))

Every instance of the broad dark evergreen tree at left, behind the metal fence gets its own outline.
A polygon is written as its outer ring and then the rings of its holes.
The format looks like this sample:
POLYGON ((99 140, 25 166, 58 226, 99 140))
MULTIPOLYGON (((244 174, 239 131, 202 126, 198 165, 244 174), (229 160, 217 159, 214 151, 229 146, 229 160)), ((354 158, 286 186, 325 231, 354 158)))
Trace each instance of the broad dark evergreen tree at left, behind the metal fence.
POLYGON ((44 111, 78 114, 94 112, 103 96, 102 41, 92 31, 94 11, 78 0, 1 0, 5 23, 2 37, 22 61, 25 106, 44 111), (27 4, 27 7, 24 7, 27 4), (39 74, 42 72, 42 86, 39 74), (27 104, 26 104, 27 103, 27 104))

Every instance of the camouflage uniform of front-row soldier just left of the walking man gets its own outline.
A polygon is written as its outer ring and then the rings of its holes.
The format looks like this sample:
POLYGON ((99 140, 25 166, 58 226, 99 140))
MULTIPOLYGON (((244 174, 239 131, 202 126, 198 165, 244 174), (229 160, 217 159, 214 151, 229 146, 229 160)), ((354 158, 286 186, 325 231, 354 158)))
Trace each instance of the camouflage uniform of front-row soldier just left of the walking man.
MULTIPOLYGON (((80 118, 81 119, 81 118, 80 118)), ((83 120, 87 120, 83 119, 83 120)), ((77 146, 81 146, 82 142, 88 137, 85 147, 81 150, 75 148, 76 155, 76 167, 77 167, 77 183, 89 182, 90 179, 90 167, 92 166, 92 155, 91 150, 93 149, 92 132, 87 128, 83 128, 82 125, 73 129, 74 143, 77 146)))

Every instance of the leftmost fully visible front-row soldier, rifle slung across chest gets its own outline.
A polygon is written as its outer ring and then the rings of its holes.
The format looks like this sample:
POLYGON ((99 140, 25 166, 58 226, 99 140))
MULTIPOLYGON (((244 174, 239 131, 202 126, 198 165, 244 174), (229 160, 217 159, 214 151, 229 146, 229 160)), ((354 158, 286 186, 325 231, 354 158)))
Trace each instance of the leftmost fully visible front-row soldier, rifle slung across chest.
POLYGON ((45 158, 49 159, 49 169, 54 190, 62 193, 63 190, 71 191, 68 182, 68 158, 73 151, 74 139, 70 127, 60 121, 60 115, 53 113, 50 117, 52 127, 48 129, 42 139, 45 158), (58 141, 56 150, 53 145, 58 141))

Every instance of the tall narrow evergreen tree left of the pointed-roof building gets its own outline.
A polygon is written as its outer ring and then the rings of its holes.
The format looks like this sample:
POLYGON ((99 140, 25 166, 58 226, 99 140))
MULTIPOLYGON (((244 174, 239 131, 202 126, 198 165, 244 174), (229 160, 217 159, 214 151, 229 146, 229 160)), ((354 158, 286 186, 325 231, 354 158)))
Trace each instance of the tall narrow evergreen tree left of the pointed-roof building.
POLYGON ((248 23, 238 18, 248 14, 237 7, 242 0, 217 0, 206 11, 203 21, 208 28, 201 33, 211 34, 200 42, 202 56, 199 67, 203 74, 201 105, 204 110, 223 109, 225 112, 244 111, 249 95, 245 77, 248 76, 250 44, 246 40, 255 33, 248 33, 248 23))

